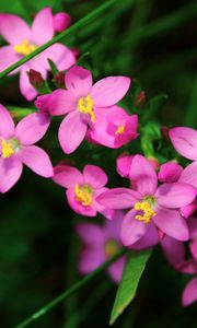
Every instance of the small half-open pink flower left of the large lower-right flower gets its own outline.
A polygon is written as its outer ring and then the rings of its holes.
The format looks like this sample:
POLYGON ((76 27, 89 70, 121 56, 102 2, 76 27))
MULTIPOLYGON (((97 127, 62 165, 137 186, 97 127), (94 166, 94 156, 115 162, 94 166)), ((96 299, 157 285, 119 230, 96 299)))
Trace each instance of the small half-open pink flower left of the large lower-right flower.
POLYGON ((85 165, 83 173, 67 165, 55 167, 54 181, 66 188, 69 206, 77 213, 85 216, 95 216, 97 212, 112 219, 114 211, 106 210, 96 201, 96 197, 107 190, 107 176, 102 168, 95 165, 85 165))

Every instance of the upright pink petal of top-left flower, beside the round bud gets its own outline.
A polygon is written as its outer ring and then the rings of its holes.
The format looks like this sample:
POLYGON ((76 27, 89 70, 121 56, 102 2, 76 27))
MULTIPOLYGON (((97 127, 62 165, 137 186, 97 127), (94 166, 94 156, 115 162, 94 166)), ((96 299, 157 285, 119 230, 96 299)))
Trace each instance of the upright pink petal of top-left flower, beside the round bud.
POLYGON ((31 39, 40 46, 51 39, 54 36, 54 19, 49 7, 40 10, 34 17, 32 24, 31 39))

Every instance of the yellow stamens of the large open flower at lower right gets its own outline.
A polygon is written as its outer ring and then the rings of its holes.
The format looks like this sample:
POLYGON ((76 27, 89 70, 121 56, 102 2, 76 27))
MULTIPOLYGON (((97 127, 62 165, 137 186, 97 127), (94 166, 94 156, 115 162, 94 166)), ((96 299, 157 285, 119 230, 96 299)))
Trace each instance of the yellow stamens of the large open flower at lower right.
POLYGON ((155 216, 157 213, 152 209, 152 206, 155 203, 153 197, 144 197, 143 201, 138 201, 135 203, 135 210, 141 211, 141 214, 135 215, 136 220, 143 221, 144 223, 149 223, 152 216, 155 216))

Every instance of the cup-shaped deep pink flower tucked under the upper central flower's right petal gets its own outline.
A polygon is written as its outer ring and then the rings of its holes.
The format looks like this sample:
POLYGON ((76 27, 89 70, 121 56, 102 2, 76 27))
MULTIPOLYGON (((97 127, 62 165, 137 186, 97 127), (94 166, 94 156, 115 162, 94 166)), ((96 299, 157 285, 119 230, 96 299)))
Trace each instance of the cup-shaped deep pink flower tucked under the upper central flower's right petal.
POLYGON ((137 115, 128 115, 121 107, 113 106, 96 114, 94 129, 90 129, 89 134, 92 141, 116 149, 136 139, 137 128, 137 115))

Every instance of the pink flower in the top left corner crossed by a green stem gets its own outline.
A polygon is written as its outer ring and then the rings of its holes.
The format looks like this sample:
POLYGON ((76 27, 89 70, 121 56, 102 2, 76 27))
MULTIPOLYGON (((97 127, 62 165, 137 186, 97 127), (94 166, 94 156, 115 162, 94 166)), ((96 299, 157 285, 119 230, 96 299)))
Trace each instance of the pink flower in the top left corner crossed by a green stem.
MULTIPOLYGON (((9 43, 8 46, 0 48, 0 71, 2 71, 53 38, 55 28, 51 9, 47 7, 40 10, 33 21, 32 28, 16 15, 0 13, 0 34, 9 43)), ((21 93, 28 101, 32 101, 37 92, 28 81, 27 71, 30 69, 39 71, 46 79, 47 71, 50 70, 48 58, 59 70, 66 70, 76 62, 71 50, 62 44, 55 44, 15 70, 14 72, 20 71, 21 93)))

